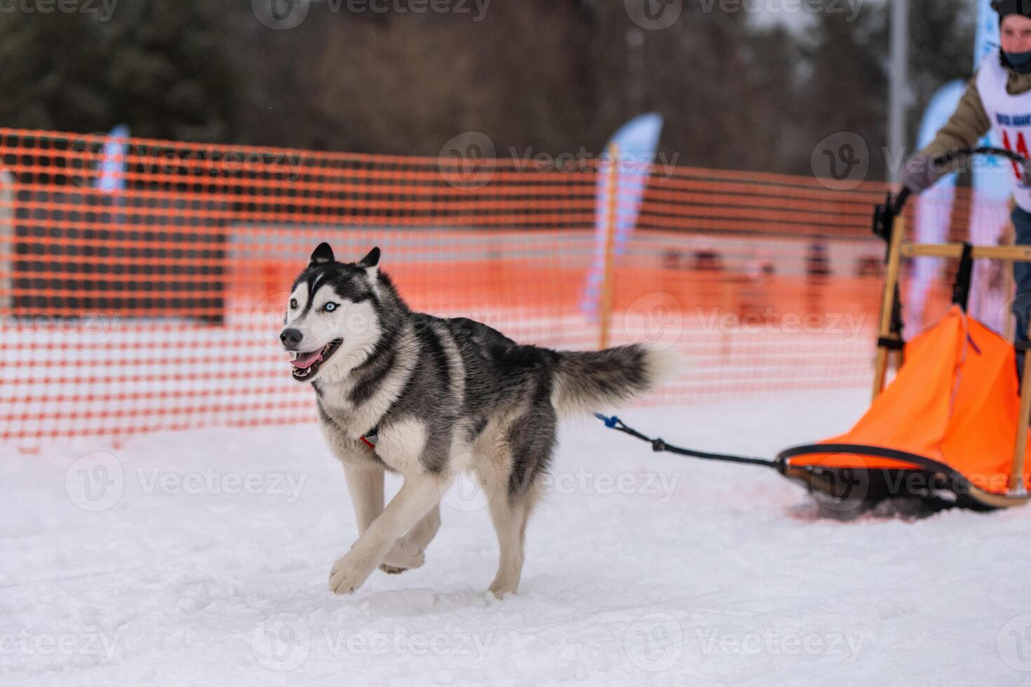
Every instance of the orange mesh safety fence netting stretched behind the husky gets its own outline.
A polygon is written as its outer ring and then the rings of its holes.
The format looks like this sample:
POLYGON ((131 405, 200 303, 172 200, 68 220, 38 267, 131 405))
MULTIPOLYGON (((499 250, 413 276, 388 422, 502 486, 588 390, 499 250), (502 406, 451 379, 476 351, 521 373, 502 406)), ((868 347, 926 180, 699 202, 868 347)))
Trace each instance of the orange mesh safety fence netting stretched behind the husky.
MULTIPOLYGON (((583 306, 598 165, 129 139, 112 174, 104 142, 0 129, 0 439, 311 421, 276 337, 323 240, 340 260, 380 246, 418 310, 598 345, 583 306)), ((655 168, 614 261, 609 342, 689 364, 645 403, 869 383, 885 186, 832 185, 655 168)), ((946 296, 936 280, 928 312, 946 296)))

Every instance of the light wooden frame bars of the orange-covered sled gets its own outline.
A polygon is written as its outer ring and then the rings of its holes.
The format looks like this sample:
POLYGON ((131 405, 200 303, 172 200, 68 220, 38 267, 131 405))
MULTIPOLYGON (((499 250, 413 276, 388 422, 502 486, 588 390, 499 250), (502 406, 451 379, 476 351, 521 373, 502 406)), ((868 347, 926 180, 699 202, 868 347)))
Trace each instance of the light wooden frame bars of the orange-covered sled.
MULTIPOLYGON (((894 214, 890 221, 888 236, 888 261, 885 291, 880 304, 880 322, 877 331, 877 356, 873 373, 873 398, 876 399, 885 387, 890 359, 896 366, 902 363, 901 334, 893 327, 893 312, 898 294, 899 272, 903 257, 926 255, 932 257, 954 257, 963 255, 963 243, 916 243, 905 240, 905 220, 901 212, 894 214), (894 345, 893 345, 894 342, 894 345), (894 353, 894 355, 893 355, 894 353)), ((972 259, 995 259, 1007 262, 1031 263, 1031 246, 971 246, 972 259)), ((1013 446, 1013 460, 1010 470, 1009 492, 997 494, 971 486, 971 496, 992 508, 1006 508, 1025 504, 1031 499, 1024 487, 1024 460, 1027 450, 1028 420, 1031 418, 1031 351, 1024 356, 1024 375, 1020 388, 1021 405, 1017 420, 1017 442, 1013 446)))

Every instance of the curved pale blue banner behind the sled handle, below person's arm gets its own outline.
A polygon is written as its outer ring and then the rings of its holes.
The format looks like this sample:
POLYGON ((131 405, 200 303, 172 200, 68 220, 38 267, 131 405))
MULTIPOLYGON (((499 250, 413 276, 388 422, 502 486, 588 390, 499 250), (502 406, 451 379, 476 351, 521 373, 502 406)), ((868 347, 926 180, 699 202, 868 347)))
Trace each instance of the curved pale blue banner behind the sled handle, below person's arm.
MULTIPOLYGON (((917 148, 934 140, 934 135, 949 122, 956 111, 966 85, 955 79, 938 89, 920 123, 917 134, 917 148)), ((956 173, 950 172, 937 183, 917 196, 913 208, 913 236, 920 243, 944 243, 949 240, 949 225, 953 216, 953 202, 956 198, 956 173)), ((909 280, 903 314, 905 316, 905 337, 911 338, 923 329, 924 306, 932 284, 941 270, 939 257, 914 257, 912 278, 909 280)))

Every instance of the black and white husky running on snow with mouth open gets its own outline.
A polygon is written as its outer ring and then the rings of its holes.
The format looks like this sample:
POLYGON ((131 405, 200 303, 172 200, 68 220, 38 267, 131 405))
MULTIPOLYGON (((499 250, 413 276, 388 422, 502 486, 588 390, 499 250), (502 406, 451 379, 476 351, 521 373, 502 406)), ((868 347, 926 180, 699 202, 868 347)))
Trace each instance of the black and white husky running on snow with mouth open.
POLYGON ((412 312, 378 262, 379 248, 338 263, 320 244, 291 288, 279 335, 294 379, 314 388, 355 504, 359 538, 333 565, 330 589, 351 593, 376 566, 422 565, 442 494, 471 471, 500 547, 490 589, 514 592, 558 418, 644 391, 667 357, 639 345, 548 350, 464 317, 412 312), (404 477, 386 508, 385 470, 404 477))

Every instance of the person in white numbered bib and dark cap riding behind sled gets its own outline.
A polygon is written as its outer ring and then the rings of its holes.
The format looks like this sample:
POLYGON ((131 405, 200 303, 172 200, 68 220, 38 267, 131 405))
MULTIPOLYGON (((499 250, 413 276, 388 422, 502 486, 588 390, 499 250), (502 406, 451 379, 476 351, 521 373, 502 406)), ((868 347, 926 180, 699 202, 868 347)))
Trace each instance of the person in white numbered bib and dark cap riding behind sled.
MULTIPOLYGON (((935 165, 935 160, 972 148, 993 127, 1003 147, 1031 158, 1031 0, 994 0, 992 8, 999 12, 1000 46, 985 56, 956 111, 934 140, 906 160, 902 184, 911 193, 921 193, 951 171, 935 165)), ((1015 163, 1013 182, 1016 206, 1010 216, 1017 243, 1031 245, 1031 166, 1020 169, 1015 163)), ((1015 262, 1013 280, 1016 338, 1022 341, 1027 339, 1028 313, 1019 310, 1031 305, 1031 264, 1015 262)), ((1019 348, 1017 362, 1020 373, 1024 352, 1019 348)))

